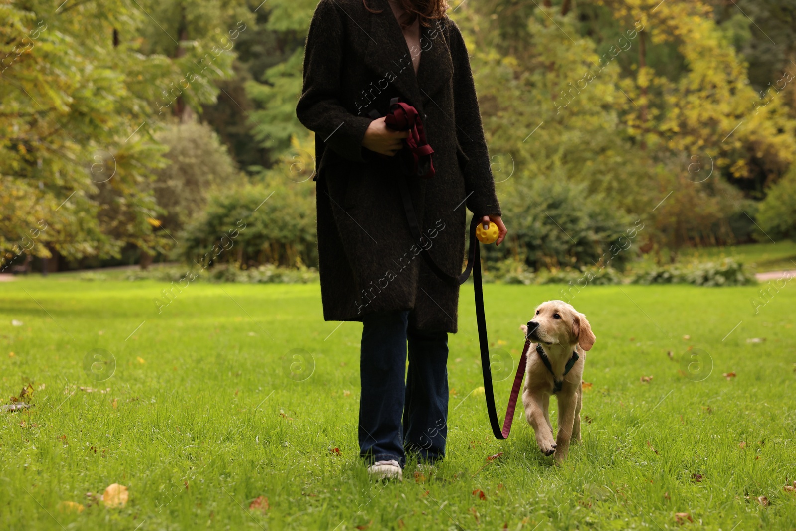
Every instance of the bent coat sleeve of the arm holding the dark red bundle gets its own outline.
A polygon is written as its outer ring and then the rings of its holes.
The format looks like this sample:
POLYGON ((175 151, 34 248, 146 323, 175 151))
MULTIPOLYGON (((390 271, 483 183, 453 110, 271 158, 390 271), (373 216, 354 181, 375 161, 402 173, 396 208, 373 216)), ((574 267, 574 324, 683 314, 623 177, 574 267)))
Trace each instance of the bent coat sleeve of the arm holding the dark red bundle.
POLYGON ((365 162, 362 139, 371 119, 353 115, 340 103, 345 28, 332 0, 321 0, 304 50, 304 84, 298 120, 342 158, 365 162))

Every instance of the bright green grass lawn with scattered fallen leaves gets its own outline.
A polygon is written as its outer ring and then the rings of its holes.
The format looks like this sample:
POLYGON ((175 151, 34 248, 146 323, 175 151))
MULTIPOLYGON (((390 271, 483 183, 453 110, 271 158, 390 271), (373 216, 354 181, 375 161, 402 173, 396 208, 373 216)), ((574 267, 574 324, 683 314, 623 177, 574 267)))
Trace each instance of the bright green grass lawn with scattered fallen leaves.
MULTIPOLYGON (((510 438, 492 437, 466 286, 447 459, 387 484, 357 458, 361 326, 324 322, 317 284, 193 283, 158 314, 164 287, 58 275, 0 286, 2 403, 34 389, 32 408, 0 412, 0 529, 796 528, 796 494, 782 489, 796 479, 790 284, 758 314, 758 287, 581 291, 573 304, 597 342, 583 443, 563 467, 540 454, 521 407, 510 438), (84 370, 92 349, 115 358, 106 381, 84 370), (291 349, 311 357, 302 366, 291 349), (129 488, 123 508, 86 494, 115 482, 129 488), (268 508, 249 510, 259 496, 268 508)), ((517 327, 560 287, 485 289, 490 342, 516 363, 517 327)), ((498 408, 509 386, 497 384, 498 408)))

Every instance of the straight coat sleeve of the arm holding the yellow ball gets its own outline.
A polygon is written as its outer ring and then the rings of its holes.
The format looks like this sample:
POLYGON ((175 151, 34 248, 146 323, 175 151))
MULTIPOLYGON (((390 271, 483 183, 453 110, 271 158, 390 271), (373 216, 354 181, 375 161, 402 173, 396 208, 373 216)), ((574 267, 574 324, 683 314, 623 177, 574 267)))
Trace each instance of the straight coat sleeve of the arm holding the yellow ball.
POLYGON ((467 208, 476 216, 492 214, 501 216, 500 204, 495 194, 494 179, 490 170, 490 155, 486 150, 481 112, 475 96, 475 82, 470 70, 470 57, 462 33, 454 21, 451 27, 449 46, 453 61, 454 112, 458 143, 468 159, 464 169, 464 184, 467 208))

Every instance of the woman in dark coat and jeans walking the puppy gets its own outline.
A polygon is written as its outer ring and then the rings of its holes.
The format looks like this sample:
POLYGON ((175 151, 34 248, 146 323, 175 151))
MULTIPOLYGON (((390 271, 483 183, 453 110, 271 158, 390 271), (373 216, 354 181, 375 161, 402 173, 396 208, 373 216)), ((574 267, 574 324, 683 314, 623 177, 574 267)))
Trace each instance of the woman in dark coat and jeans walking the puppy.
POLYGON ((470 61, 445 0, 321 0, 304 57, 298 119, 315 131, 324 318, 361 321, 361 456, 402 477, 406 451, 434 463, 447 436, 447 333, 457 331, 464 206, 505 238, 470 61), (408 177, 407 131, 383 116, 398 97, 419 113, 435 176, 408 177), (373 115, 381 118, 373 119, 373 115), (408 183, 423 242, 399 189, 408 183), (407 343, 409 369, 406 370, 407 343))

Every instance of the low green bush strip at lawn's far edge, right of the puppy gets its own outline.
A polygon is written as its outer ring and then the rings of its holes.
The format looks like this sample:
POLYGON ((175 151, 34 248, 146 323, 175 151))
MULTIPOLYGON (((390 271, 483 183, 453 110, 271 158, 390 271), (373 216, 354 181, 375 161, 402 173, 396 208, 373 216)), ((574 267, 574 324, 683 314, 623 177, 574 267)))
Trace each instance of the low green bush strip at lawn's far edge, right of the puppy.
POLYGON ((632 279, 636 284, 686 283, 696 286, 745 286, 757 283, 754 273, 740 262, 725 258, 720 262, 672 264, 643 271, 632 279))

